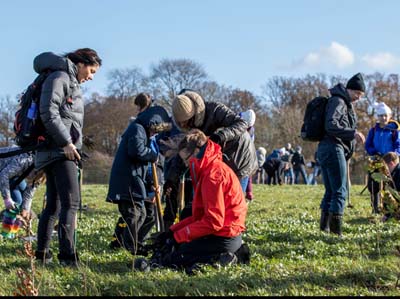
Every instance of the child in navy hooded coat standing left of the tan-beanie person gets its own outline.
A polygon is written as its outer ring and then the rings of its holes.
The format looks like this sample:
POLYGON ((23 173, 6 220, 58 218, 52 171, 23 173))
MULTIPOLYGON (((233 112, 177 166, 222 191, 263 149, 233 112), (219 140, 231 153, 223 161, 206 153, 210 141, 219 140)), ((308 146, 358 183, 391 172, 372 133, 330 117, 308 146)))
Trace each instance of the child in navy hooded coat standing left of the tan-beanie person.
MULTIPOLYGON (((156 162, 158 154, 150 147, 150 137, 171 129, 167 111, 152 106, 139 113, 122 134, 111 168, 106 201, 118 204, 127 224, 122 232, 122 245, 137 254, 139 231, 146 219, 145 199, 148 163, 156 162)), ((160 190, 154 190, 160 192, 160 190)))

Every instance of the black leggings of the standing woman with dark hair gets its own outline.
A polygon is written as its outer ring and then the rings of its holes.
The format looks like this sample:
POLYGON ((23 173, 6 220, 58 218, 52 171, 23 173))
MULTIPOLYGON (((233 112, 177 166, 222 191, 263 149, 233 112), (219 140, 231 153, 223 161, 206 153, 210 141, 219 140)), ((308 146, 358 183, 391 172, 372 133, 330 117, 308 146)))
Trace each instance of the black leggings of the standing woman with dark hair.
POLYGON ((54 223, 58 217, 60 255, 75 254, 76 212, 79 208, 78 168, 74 161, 56 161, 45 169, 46 207, 38 226, 38 251, 49 249, 54 223))

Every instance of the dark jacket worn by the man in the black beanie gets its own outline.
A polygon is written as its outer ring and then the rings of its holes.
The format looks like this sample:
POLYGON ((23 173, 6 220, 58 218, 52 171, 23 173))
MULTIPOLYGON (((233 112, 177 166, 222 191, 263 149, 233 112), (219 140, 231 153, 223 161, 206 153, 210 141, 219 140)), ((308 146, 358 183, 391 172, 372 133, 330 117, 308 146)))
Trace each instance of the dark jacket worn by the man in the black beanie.
POLYGON ((329 90, 325 113, 325 135, 320 143, 338 144, 343 147, 346 160, 353 155, 357 117, 353 110, 350 95, 339 83, 329 90))

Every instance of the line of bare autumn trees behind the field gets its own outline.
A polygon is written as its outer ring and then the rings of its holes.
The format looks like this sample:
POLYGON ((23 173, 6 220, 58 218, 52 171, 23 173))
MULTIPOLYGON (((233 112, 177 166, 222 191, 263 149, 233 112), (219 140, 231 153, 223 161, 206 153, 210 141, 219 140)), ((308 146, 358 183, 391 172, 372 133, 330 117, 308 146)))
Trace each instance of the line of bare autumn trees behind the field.
MULTIPOLYGON (((199 91, 205 101, 226 104, 236 112, 253 109, 256 148, 263 146, 267 154, 290 142, 301 145, 307 161, 314 159, 317 143, 303 142, 299 136, 304 110, 308 101, 318 95, 329 95, 328 89, 347 78, 306 75, 301 78, 276 76, 262 86, 262 94, 227 87, 210 80, 202 65, 190 59, 163 59, 150 67, 149 74, 140 68, 114 69, 107 75, 107 94, 85 94, 84 134, 92 136, 95 151, 86 162, 84 175, 87 183, 108 183, 112 159, 119 137, 127 127, 133 111, 133 99, 140 92, 149 93, 154 103, 171 111, 172 99, 183 88, 199 91)), ((375 123, 374 102, 385 102, 399 119, 399 75, 364 74, 366 97, 355 104, 358 129, 365 135, 375 123)), ((0 100, 0 145, 12 144, 13 120, 17 100, 5 96, 0 100)), ((351 161, 352 182, 364 184, 367 163, 364 146, 358 145, 351 161)))

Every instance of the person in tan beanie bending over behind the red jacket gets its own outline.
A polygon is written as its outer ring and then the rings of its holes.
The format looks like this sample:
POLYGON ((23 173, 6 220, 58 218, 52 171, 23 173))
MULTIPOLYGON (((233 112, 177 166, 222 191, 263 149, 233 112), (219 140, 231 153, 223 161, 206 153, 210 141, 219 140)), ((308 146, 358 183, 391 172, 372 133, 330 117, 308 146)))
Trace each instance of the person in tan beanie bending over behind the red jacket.
POLYGON ((245 192, 248 177, 257 170, 248 124, 226 105, 205 102, 195 91, 183 90, 172 102, 172 117, 181 131, 200 129, 222 147, 224 161, 238 176, 245 192))

